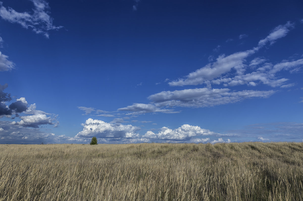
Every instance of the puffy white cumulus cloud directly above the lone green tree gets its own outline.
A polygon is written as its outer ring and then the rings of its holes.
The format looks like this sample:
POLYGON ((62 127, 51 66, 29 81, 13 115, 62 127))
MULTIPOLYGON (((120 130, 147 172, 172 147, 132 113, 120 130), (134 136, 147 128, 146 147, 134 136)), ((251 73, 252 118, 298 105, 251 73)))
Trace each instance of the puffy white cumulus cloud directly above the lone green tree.
POLYGON ((140 127, 132 125, 111 124, 97 119, 87 119, 82 124, 83 130, 75 138, 135 138, 140 127))

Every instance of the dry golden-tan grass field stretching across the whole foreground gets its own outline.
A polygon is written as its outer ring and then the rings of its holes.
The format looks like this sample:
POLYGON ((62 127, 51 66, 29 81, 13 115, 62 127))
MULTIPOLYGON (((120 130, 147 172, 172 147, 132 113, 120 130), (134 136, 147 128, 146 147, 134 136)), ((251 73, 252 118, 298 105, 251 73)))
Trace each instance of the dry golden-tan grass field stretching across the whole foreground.
POLYGON ((0 145, 0 200, 303 201, 303 143, 0 145))

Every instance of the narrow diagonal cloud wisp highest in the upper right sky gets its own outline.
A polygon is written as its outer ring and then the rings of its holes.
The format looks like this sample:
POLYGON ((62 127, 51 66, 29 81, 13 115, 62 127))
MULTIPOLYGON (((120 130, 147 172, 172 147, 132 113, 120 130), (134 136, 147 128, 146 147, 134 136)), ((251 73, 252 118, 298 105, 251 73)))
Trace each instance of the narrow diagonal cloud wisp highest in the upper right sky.
POLYGON ((279 25, 265 38, 259 41, 258 46, 262 47, 266 43, 274 44, 276 40, 285 37, 291 28, 294 28, 294 23, 287 22, 285 25, 279 25))

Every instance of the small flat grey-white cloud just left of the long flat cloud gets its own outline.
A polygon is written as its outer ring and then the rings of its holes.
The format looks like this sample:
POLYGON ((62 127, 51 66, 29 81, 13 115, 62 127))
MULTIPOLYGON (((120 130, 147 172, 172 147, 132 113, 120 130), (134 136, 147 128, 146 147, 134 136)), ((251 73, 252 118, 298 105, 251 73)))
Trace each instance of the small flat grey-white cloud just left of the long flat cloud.
POLYGON ((162 112, 162 113, 178 113, 172 109, 160 109, 153 104, 134 103, 131 106, 125 108, 119 108, 118 111, 130 111, 126 115, 139 115, 150 112, 162 112))

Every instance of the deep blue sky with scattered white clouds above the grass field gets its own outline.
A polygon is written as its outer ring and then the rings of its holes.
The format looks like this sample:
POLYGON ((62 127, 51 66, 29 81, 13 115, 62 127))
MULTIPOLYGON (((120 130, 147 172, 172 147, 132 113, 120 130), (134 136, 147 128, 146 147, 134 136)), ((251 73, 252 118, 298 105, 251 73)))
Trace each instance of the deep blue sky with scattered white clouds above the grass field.
POLYGON ((0 0, 0 144, 303 142, 302 10, 0 0))

